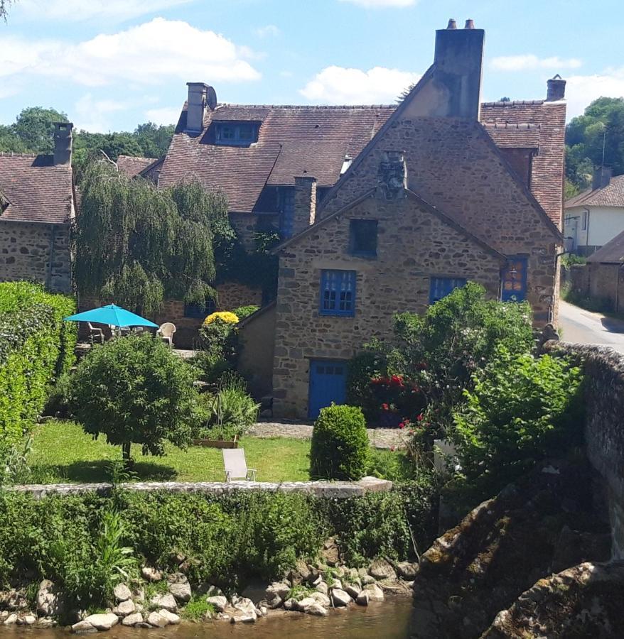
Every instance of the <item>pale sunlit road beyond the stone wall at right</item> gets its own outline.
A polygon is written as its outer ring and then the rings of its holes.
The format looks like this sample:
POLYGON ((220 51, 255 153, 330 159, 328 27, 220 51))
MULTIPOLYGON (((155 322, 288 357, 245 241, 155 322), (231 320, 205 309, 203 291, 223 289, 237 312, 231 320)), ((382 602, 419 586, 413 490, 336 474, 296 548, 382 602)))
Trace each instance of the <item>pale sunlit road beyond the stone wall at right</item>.
POLYGON ((603 344, 624 353, 624 322, 593 313, 561 300, 559 328, 563 342, 603 344))

